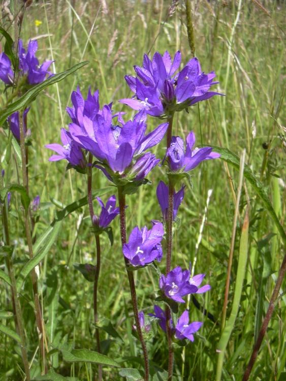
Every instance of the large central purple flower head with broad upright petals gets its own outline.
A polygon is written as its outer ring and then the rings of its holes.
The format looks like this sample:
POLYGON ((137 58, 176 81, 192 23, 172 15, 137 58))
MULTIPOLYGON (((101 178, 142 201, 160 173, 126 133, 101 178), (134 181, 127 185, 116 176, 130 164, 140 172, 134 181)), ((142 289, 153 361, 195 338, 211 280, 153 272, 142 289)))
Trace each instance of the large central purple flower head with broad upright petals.
POLYGON ((168 123, 163 123, 145 136, 146 117, 142 110, 133 121, 124 123, 119 114, 118 122, 122 126, 113 125, 112 111, 106 105, 93 120, 83 116, 81 126, 71 123, 70 132, 81 148, 90 151, 100 161, 109 179, 117 174, 126 181, 138 181, 159 162, 154 155, 144 151, 159 143, 168 128, 168 123))

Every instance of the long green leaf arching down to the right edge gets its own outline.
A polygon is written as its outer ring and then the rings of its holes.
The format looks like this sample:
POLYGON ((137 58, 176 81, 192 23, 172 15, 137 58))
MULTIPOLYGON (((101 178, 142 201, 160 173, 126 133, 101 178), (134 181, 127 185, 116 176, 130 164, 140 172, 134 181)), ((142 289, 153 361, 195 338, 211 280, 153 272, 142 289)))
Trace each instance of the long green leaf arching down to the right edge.
MULTIPOLYGON (((227 148, 220 148, 220 147, 215 147, 212 146, 213 150, 215 152, 220 153, 220 158, 224 160, 225 162, 229 163, 231 166, 233 166, 236 170, 239 171, 239 163, 240 159, 237 155, 232 153, 229 149, 227 148)), ((268 210, 269 214, 271 215, 278 232, 281 235, 281 238, 286 245, 286 233, 280 224, 279 218, 277 217, 275 210, 273 209, 273 206, 269 200, 268 197, 268 192, 267 188, 263 185, 263 183, 255 176, 253 175, 251 169, 245 164, 244 166, 244 172, 243 172, 244 177, 250 182, 251 186, 253 189, 255 189, 256 193, 260 197, 261 201, 263 202, 263 205, 265 208, 268 210)))

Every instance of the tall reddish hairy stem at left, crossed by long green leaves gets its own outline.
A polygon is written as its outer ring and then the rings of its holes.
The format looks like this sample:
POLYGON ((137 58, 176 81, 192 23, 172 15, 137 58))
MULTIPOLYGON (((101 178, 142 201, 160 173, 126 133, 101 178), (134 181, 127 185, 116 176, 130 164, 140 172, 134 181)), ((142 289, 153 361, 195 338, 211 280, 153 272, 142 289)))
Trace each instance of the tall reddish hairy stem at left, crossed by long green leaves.
MULTIPOLYGON (((22 158, 22 177, 23 177, 23 186, 26 188, 27 193, 29 192, 28 189, 28 177, 27 177, 27 170, 26 167, 28 163, 26 162, 26 148, 25 148, 25 134, 24 134, 24 124, 23 124, 23 112, 19 111, 19 128, 20 128, 20 146, 21 146, 21 158, 22 158)), ((33 243, 32 243, 32 237, 31 237, 31 230, 30 230, 30 221, 29 221, 29 213, 28 211, 24 212, 24 224, 25 224, 25 233, 27 238, 27 244, 28 244, 28 250, 29 250, 29 258, 32 259, 34 257, 33 255, 33 243)), ((34 292, 34 302, 35 302, 35 309, 36 309, 36 321, 37 326, 39 330, 39 338, 40 338, 40 348, 41 348, 41 355, 43 359, 43 368, 44 372, 47 372, 46 366, 45 366, 45 342, 44 342, 44 335, 43 335, 43 319, 42 319, 42 311, 41 311, 41 304, 39 300, 39 294, 38 294, 38 283, 37 283, 37 276, 36 276, 36 270, 33 268, 31 271, 31 278, 33 283, 33 292, 34 292)))

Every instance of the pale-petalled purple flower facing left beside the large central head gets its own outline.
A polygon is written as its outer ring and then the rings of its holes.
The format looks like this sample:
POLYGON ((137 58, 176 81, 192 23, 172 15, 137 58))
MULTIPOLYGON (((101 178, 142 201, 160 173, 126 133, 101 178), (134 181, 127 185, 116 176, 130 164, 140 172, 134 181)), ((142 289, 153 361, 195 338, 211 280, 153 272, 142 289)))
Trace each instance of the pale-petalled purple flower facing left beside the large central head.
POLYGON ((84 168, 85 159, 82 151, 72 139, 71 134, 67 130, 61 129, 60 136, 62 146, 57 143, 45 145, 46 148, 52 149, 58 153, 58 155, 52 155, 49 158, 49 162, 56 162, 62 158, 65 158, 73 166, 80 166, 81 168, 84 168))

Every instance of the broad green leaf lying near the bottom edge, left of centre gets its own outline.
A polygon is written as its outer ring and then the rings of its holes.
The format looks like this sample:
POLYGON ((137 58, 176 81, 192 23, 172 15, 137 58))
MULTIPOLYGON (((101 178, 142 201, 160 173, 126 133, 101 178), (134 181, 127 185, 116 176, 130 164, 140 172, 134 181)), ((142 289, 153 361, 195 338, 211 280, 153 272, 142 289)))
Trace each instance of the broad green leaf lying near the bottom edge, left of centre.
POLYGON ((87 363, 94 363, 94 364, 102 364, 102 365, 108 365, 108 366, 114 366, 117 368, 120 368, 120 365, 110 359, 109 357, 102 355, 98 352, 88 351, 86 349, 78 349, 71 351, 68 348, 69 343, 66 345, 62 345, 59 350, 62 353, 63 360, 67 362, 87 362, 87 363), (67 350, 66 350, 67 347, 67 350))

